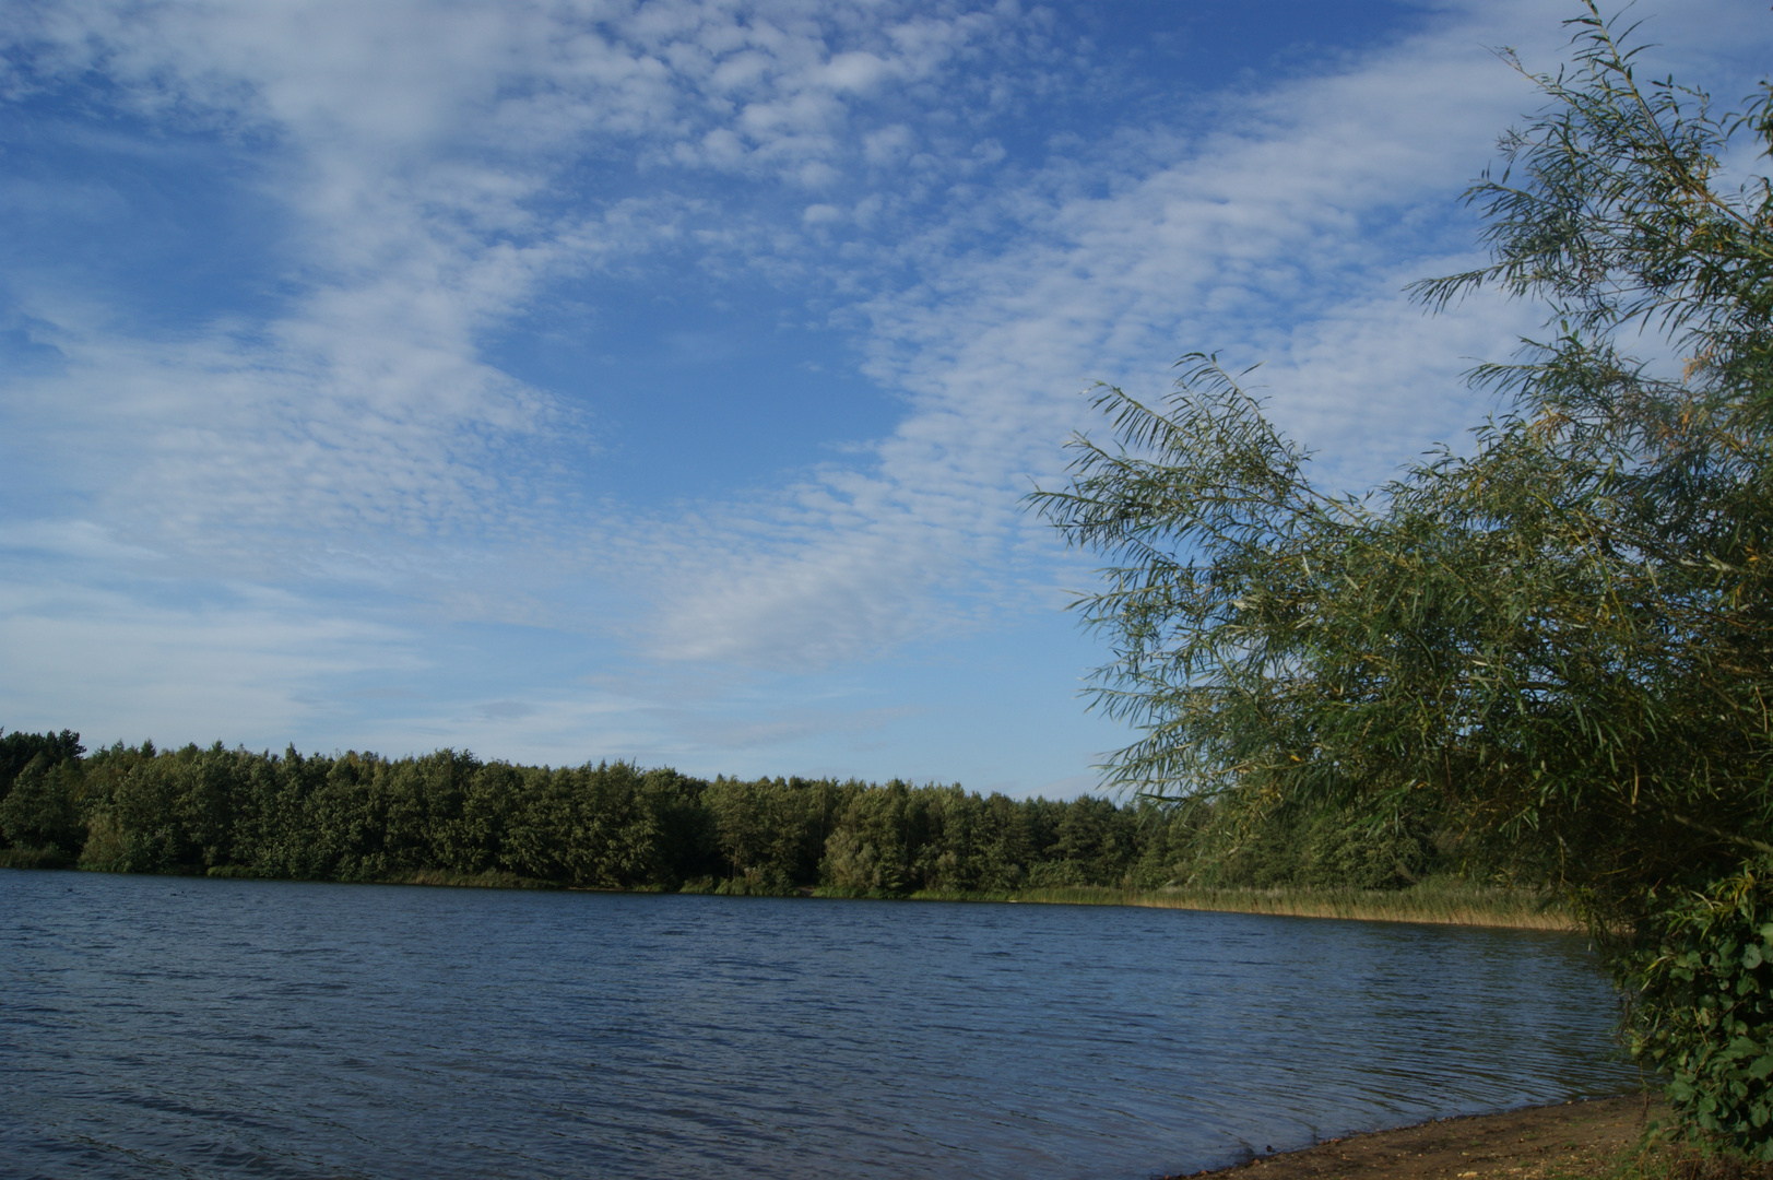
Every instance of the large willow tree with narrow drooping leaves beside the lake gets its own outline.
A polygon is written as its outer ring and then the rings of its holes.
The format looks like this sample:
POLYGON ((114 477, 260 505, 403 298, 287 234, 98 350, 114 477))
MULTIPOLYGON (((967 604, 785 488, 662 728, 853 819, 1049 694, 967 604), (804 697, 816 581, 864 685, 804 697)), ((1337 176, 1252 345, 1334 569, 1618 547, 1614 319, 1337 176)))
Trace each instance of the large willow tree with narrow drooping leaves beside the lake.
POLYGON ((1161 405, 1101 389, 1112 440, 1032 502, 1110 562, 1078 609, 1140 735, 1112 784, 1434 814, 1601 935, 1688 1127, 1773 1159, 1773 192, 1720 163, 1766 170, 1773 92, 1723 114, 1571 25, 1468 192, 1489 264, 1415 289, 1550 309, 1473 373, 1505 408, 1470 454, 1324 495, 1191 355, 1161 405))

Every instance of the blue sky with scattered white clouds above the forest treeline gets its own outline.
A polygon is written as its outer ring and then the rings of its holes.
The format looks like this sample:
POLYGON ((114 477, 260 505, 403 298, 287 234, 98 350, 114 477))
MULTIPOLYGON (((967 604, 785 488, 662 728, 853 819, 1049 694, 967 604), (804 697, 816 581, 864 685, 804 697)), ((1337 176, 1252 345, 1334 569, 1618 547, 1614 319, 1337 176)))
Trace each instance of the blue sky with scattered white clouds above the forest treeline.
MULTIPOLYGON (((1023 511, 1094 382, 1261 362, 1360 490, 1553 0, 11 0, 0 726, 1071 797, 1131 742, 1023 511)), ((1734 103, 1745 0, 1640 2, 1734 103)))

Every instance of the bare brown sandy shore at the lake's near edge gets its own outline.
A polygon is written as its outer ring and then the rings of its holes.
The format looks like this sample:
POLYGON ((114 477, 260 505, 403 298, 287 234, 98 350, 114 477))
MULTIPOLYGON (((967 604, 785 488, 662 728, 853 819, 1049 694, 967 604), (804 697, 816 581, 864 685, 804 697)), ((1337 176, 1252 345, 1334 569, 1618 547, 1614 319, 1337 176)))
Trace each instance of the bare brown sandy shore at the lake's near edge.
MULTIPOLYGON (((1638 1146, 1651 1121, 1667 1123, 1642 1095, 1541 1105, 1505 1114, 1443 1118, 1420 1127, 1332 1139, 1301 1152, 1259 1155, 1197 1176, 1218 1180, 1543 1180, 1605 1175, 1638 1146)), ((1177 1180, 1167 1176, 1165 1180, 1177 1180)))

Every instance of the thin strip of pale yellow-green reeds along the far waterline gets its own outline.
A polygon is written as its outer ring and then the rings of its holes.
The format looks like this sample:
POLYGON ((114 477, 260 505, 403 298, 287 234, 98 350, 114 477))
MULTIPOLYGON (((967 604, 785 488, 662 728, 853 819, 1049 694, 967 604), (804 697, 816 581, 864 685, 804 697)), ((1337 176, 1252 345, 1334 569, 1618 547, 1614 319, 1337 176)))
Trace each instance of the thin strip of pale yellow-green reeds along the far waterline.
MULTIPOLYGON (((965 894, 918 893, 918 900, 965 900, 965 894)), ((1057 905, 1147 905, 1170 910, 1230 914, 1284 914, 1289 917, 1347 917, 1447 926, 1507 926, 1512 930, 1580 930, 1550 898, 1525 889, 1496 889, 1466 882, 1425 882, 1410 889, 1110 889, 1073 885, 977 896, 991 901, 1057 905)))

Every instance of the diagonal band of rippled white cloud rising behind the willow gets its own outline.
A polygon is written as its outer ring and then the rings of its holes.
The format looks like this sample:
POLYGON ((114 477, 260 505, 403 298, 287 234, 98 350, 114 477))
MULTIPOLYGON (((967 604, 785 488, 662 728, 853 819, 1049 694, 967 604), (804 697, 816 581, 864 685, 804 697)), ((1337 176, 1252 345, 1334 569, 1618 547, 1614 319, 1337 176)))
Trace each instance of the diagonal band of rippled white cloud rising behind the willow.
POLYGON ((661 584, 688 587, 667 591, 656 649, 808 667, 1044 607, 1055 554, 1018 497, 1051 483, 1058 444, 1090 426, 1078 390, 1099 378, 1161 396, 1188 348, 1268 360, 1273 413, 1333 484, 1457 442, 1473 424, 1461 371, 1530 325, 1489 300, 1425 321, 1401 293, 1470 263, 1457 218, 1452 234, 1445 215, 1427 231, 1406 218, 1450 208, 1530 101, 1472 34, 1440 28, 1239 94, 1218 130, 1154 144, 1170 158, 1140 160, 1105 197, 1053 169, 1044 192, 1002 195, 1018 231, 995 256, 950 250, 947 227, 911 243, 922 280, 862 316, 871 373, 913 412, 872 468, 830 468, 656 547, 661 584))

